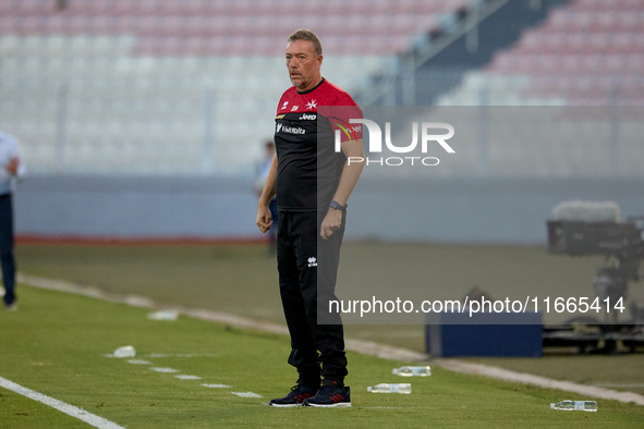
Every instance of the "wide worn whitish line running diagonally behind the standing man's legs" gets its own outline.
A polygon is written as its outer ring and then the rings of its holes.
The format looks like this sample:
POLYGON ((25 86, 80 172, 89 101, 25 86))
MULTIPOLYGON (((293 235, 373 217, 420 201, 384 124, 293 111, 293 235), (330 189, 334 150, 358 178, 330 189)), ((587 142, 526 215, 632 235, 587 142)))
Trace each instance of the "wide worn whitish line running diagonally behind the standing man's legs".
MULTIPOLYGON (((97 299, 108 301, 111 303, 127 304, 134 307, 159 307, 158 304, 156 304, 154 301, 149 298, 108 293, 100 291, 98 287, 84 286, 62 280, 51 280, 36 275, 23 274, 22 272, 19 272, 17 281, 20 283, 29 284, 34 287, 45 289, 49 291, 73 293, 76 295, 88 296, 97 299)), ((239 328, 255 329, 257 331, 277 333, 281 335, 289 334, 289 330, 285 326, 259 322, 256 320, 248 320, 239 316, 230 315, 228 312, 186 307, 175 307, 175 309, 181 315, 185 315, 199 320, 228 323, 239 328)), ((370 341, 344 339, 344 345, 348 351, 361 353, 363 355, 379 357, 381 359, 425 363, 429 358, 429 356, 427 356, 424 353, 418 353, 385 344, 378 344, 370 341)), ((616 390, 597 388, 586 384, 579 384, 571 381, 556 381, 547 379, 545 377, 532 376, 530 373, 502 370, 500 368, 495 368, 486 365, 469 364, 459 360, 434 359, 433 363, 437 366, 440 366, 451 371, 477 373, 479 376, 496 378, 499 380, 511 381, 515 383, 536 384, 547 389, 558 389, 564 392, 581 393, 587 396, 603 397, 624 403, 634 402, 637 405, 644 405, 644 395, 640 395, 632 392, 618 392, 616 390)))

